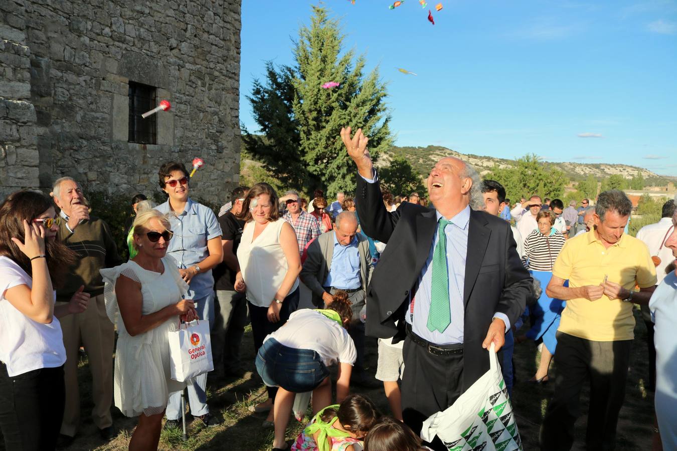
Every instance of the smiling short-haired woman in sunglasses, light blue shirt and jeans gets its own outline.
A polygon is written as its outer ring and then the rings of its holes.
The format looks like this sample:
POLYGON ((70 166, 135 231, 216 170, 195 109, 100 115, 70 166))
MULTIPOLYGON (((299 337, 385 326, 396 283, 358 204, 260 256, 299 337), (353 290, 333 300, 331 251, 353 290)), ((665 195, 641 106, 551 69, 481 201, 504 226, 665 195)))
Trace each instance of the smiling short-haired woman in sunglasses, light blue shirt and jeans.
MULTIPOLYGON (((167 254, 175 260, 181 277, 190 285, 190 296, 195 302, 198 318, 209 321, 209 330, 214 327, 214 276, 212 268, 223 261, 221 245, 221 226, 211 210, 188 197, 190 177, 183 163, 167 162, 160 166, 158 182, 162 191, 167 193, 167 201, 155 209, 166 214, 174 232, 169 241, 167 254)), ((207 385, 207 373, 195 378, 204 392, 207 385)), ((193 417, 202 421, 202 425, 214 427, 223 423, 222 419, 209 413, 209 406, 200 398, 194 385, 188 387, 188 402, 193 417)), ((175 391, 169 396, 167 404, 166 428, 179 427, 181 417, 181 393, 175 391)))

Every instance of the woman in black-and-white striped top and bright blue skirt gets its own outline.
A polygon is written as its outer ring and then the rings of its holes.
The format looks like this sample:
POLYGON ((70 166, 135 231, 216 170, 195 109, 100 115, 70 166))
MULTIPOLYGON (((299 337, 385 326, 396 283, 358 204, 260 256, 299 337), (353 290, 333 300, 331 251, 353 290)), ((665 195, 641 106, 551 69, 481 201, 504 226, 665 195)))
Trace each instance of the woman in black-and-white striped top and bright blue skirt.
MULTIPOLYGON (((552 266, 565 243, 565 237, 556 232, 554 225, 555 216, 551 210, 542 210, 536 216, 538 229, 531 232, 524 240, 524 256, 522 263, 529 269, 531 276, 538 279, 542 287, 547 287, 552 277, 552 266)), ((541 349, 541 361, 536 375, 529 381, 545 383, 548 381, 548 368, 550 360, 557 346, 555 332, 559 327, 559 319, 564 310, 565 302, 559 299, 549 298, 546 290, 543 290, 538 302, 529 307, 533 324, 526 335, 517 338, 521 343, 526 339, 543 339, 541 349)))

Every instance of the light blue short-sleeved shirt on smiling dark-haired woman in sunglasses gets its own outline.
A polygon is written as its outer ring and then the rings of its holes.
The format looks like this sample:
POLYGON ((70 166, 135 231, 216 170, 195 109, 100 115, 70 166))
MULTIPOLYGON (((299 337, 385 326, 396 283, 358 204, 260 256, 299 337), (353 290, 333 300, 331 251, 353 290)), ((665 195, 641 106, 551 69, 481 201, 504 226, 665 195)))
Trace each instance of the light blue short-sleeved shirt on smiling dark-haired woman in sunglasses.
MULTIPOLYGON (((155 210, 167 214, 174 236, 169 240, 167 255, 176 260, 179 268, 190 268, 209 256, 207 241, 221 237, 221 226, 216 215, 202 204, 188 198, 183 212, 176 215, 169 207, 169 200, 155 210)), ((201 299, 214 291, 212 271, 206 270, 190 279, 190 289, 195 291, 194 299, 201 299)))

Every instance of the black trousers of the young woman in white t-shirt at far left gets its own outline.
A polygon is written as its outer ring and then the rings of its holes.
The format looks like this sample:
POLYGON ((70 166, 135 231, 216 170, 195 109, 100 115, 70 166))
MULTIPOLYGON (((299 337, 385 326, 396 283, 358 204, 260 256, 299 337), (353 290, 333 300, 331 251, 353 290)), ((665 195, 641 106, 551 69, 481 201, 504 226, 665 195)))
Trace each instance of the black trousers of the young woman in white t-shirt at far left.
POLYGON ((64 366, 9 377, 0 363, 0 429, 5 449, 53 450, 64 415, 64 366))

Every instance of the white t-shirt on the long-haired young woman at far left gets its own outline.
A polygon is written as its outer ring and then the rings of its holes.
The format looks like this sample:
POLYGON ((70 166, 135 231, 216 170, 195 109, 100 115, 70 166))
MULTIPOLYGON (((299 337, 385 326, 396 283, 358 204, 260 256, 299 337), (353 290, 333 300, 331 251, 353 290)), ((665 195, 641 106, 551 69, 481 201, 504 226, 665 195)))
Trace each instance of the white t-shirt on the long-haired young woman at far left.
POLYGON ((0 256, 0 360, 7 365, 9 377, 66 362, 64 337, 56 316, 49 324, 37 323, 5 299, 5 292, 18 285, 31 288, 32 279, 14 260, 0 256))

